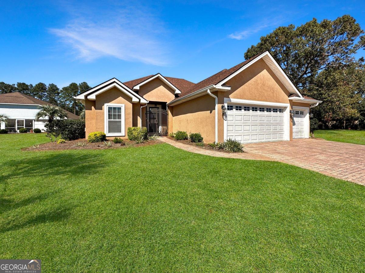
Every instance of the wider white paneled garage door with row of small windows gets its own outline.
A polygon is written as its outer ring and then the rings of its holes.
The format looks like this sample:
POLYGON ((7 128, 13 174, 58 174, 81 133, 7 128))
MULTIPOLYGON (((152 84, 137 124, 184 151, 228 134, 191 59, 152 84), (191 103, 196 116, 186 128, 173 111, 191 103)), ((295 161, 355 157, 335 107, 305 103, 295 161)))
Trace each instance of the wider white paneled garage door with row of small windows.
POLYGON ((227 104, 227 139, 241 143, 284 140, 284 107, 227 104))

